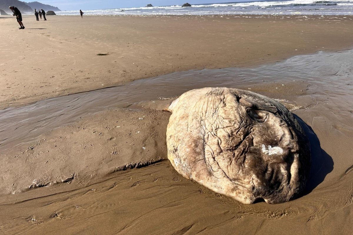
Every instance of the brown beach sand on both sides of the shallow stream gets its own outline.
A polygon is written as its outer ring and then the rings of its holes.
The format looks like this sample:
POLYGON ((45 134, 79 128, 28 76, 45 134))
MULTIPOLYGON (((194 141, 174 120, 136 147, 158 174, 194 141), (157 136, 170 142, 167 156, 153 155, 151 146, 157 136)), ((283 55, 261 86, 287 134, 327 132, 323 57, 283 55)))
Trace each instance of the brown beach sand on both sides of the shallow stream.
MULTIPOLYGON (((346 49, 352 47, 353 17, 344 17, 48 16, 36 22, 24 16, 25 30, 17 30, 12 17, 0 18, 0 106, 175 71, 257 66, 346 49)), ((239 88, 294 101, 299 109, 293 112, 317 135, 311 139, 319 169, 303 197, 243 205, 184 179, 166 160, 169 113, 163 110, 173 99, 136 96, 127 108, 87 115, 35 140, 23 138, 23 144, 0 145, 1 233, 350 234, 351 97, 327 90, 342 100, 330 103, 314 96, 322 90, 307 81, 257 82, 239 88)), ((351 81, 340 89, 352 91, 351 81)), ((13 130, 2 127, 0 134, 7 131, 13 130)))

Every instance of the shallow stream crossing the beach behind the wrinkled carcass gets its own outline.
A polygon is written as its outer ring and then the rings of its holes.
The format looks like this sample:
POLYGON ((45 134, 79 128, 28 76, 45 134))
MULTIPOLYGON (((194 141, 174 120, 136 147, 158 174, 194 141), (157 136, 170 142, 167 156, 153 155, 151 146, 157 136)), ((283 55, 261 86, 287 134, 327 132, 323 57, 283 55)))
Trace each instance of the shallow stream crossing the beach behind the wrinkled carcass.
POLYGON ((345 124, 349 123, 352 115, 352 55, 353 50, 319 52, 254 68, 175 72, 112 88, 7 108, 0 110, 0 153, 85 115, 109 108, 128 107, 134 102, 174 97, 188 90, 208 86, 251 90, 252 86, 259 88, 269 83, 303 82, 309 84, 304 95, 279 95, 276 91, 271 93, 268 89, 259 93, 271 98, 287 99, 299 106, 331 106, 328 108, 330 112, 337 111, 335 115, 339 122, 335 121, 336 125, 352 131, 352 126, 345 124))

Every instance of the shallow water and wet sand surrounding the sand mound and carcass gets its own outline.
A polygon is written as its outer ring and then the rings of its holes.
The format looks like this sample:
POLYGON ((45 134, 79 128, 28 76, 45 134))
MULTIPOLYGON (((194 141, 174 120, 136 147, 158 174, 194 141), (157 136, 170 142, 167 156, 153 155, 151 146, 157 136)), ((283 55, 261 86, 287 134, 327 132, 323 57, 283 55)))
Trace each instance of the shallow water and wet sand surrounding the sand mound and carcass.
POLYGON ((349 234, 352 71, 353 50, 318 52, 253 68, 176 72, 0 110, 0 152, 4 153, 50 129, 107 109, 207 86, 249 89, 301 106, 292 112, 303 120, 312 151, 306 193, 288 203, 234 202, 183 179, 163 160, 118 171, 79 189, 61 184, 5 195, 0 216, 11 216, 2 219, 0 228, 8 234, 35 234, 44 228, 47 233, 60 229, 84 234, 92 224, 95 231, 107 234, 335 234, 337 228, 340 234, 349 234))

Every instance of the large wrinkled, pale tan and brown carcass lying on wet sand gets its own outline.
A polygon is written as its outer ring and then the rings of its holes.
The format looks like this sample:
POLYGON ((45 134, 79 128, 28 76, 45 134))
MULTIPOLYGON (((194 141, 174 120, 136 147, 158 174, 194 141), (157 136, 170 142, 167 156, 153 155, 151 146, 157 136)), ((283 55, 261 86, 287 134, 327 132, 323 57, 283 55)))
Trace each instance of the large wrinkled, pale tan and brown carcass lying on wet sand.
POLYGON ((187 179, 241 203, 299 196, 310 169, 303 129, 279 102, 250 91, 203 88, 169 106, 168 159, 187 179))

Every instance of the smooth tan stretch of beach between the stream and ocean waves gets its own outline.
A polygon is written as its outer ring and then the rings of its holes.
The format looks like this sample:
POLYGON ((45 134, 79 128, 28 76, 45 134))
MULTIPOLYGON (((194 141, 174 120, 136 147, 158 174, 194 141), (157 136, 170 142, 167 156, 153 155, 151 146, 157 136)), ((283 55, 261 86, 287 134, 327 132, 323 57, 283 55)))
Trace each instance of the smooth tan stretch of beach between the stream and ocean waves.
POLYGON ((353 46, 353 26, 346 24, 352 16, 230 16, 48 16, 35 22, 26 15, 23 31, 5 17, 0 39, 11 38, 0 46, 0 108, 178 71, 251 67, 353 46), (112 20, 116 27, 109 26, 112 20))

